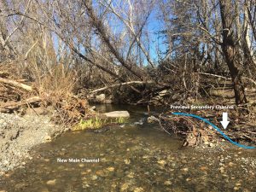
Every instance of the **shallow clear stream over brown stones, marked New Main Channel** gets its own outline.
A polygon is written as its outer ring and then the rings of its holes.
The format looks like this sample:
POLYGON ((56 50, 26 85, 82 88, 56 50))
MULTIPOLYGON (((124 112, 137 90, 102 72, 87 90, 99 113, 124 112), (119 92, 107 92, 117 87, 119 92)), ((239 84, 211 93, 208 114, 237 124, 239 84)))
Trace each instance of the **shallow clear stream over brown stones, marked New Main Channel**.
POLYGON ((32 160, 3 177, 0 191, 256 191, 255 150, 181 148, 178 137, 147 123, 147 108, 96 109, 128 110, 131 119, 39 145, 32 160))

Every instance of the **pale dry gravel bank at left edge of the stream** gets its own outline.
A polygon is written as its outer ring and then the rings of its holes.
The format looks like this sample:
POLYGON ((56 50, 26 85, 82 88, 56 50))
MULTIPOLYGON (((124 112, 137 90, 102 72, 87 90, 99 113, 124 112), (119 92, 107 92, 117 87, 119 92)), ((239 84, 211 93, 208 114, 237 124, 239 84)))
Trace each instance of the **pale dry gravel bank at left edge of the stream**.
POLYGON ((0 176, 24 166, 27 159, 32 159, 32 147, 50 142, 63 131, 48 116, 0 113, 0 176))

